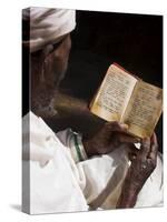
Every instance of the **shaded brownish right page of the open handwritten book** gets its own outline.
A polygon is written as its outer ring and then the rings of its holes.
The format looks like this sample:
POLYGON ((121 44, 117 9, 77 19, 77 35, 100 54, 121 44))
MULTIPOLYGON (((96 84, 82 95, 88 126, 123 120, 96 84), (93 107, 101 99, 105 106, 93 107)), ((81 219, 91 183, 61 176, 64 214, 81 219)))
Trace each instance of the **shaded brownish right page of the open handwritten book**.
POLYGON ((163 90, 144 81, 138 81, 125 112, 122 121, 129 132, 140 138, 150 137, 163 109, 163 90))

